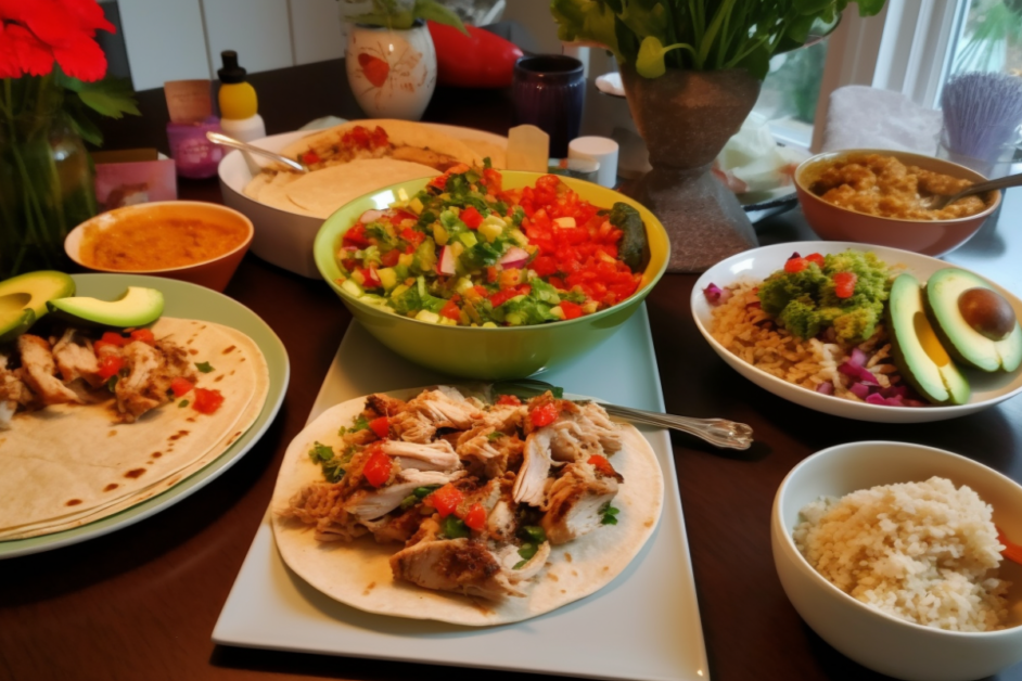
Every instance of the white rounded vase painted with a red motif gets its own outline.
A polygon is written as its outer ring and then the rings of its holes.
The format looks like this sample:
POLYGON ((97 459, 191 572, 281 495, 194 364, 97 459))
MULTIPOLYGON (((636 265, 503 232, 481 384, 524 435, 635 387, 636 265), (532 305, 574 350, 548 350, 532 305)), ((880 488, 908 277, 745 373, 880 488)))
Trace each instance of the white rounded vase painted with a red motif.
POLYGON ((354 24, 344 64, 369 118, 419 120, 436 89, 436 50, 425 23, 408 29, 354 24))

